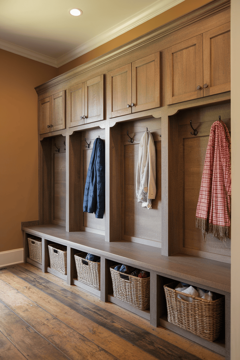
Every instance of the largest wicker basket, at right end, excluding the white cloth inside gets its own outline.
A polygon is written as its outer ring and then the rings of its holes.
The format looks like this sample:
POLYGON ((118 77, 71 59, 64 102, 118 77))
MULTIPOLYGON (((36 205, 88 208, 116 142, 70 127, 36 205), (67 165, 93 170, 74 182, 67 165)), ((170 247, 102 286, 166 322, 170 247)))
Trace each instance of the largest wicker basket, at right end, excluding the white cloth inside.
POLYGON ((164 285, 169 323, 209 341, 216 340, 222 329, 225 297, 210 301, 184 294, 193 299, 187 302, 177 297, 181 292, 174 290, 176 285, 164 285))

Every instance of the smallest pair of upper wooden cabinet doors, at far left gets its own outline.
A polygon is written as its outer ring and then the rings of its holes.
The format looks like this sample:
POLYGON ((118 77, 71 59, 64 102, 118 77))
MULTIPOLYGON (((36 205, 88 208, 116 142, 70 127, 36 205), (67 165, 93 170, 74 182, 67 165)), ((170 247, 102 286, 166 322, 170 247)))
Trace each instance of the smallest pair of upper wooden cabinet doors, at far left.
POLYGON ((39 133, 65 129, 65 90, 39 100, 39 133))

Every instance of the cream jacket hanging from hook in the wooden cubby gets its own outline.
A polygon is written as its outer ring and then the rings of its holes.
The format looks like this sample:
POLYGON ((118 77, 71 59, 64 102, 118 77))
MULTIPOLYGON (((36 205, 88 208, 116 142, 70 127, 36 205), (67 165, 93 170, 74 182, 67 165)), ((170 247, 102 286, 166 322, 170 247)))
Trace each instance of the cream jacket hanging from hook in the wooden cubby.
POLYGON ((142 207, 151 208, 151 201, 156 195, 156 152, 153 135, 145 131, 139 144, 136 176, 137 201, 142 207))

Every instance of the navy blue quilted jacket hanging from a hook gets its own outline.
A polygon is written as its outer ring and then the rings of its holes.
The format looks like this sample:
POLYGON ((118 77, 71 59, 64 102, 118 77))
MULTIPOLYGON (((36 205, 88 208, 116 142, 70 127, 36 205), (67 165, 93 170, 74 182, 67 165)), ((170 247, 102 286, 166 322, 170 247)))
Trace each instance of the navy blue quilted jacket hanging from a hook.
POLYGON ((105 210, 105 147, 103 140, 94 141, 83 198, 83 211, 103 219, 105 210))

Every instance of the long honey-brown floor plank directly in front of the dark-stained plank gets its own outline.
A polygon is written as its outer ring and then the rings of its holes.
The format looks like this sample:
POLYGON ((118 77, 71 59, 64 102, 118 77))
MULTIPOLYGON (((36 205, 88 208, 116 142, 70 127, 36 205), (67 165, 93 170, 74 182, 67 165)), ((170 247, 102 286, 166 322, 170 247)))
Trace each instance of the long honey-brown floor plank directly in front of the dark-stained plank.
POLYGON ((57 316, 59 320, 81 333, 83 336, 101 346, 112 355, 121 360, 154 360, 155 356, 133 346, 124 339, 119 338, 109 330, 104 329, 93 321, 86 319, 78 312, 69 309, 59 301, 49 298, 44 292, 29 285, 16 275, 5 270, 1 272, 1 280, 11 285, 18 292, 48 311, 51 315, 57 316))

